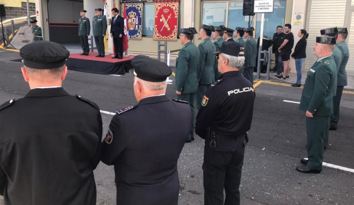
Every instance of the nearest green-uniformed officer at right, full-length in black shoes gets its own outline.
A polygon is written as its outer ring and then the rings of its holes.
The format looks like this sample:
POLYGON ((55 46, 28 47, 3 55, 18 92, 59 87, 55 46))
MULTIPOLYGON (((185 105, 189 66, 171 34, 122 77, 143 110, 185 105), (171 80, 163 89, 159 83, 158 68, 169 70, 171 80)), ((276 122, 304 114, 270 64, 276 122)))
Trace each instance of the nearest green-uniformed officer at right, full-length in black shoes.
POLYGON ((332 89, 335 83, 336 62, 333 59, 335 37, 316 37, 314 54, 318 60, 307 72, 299 109, 306 112, 307 158, 304 166, 297 167, 303 173, 320 173, 324 151, 324 132, 328 117, 333 112, 332 89))

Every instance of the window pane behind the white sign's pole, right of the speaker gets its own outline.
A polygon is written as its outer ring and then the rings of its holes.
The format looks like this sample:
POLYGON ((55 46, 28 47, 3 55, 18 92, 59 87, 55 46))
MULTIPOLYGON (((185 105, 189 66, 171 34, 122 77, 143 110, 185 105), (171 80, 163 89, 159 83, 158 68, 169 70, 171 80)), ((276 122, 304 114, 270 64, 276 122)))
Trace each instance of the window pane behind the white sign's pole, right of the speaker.
MULTIPOLYGON (((263 36, 267 36, 271 39, 273 37, 273 34, 277 32, 277 26, 284 27, 285 10, 286 10, 286 0, 274 1, 274 12, 264 14, 263 36)), ((260 33, 261 33, 261 14, 258 14, 256 38, 259 37, 260 33)))

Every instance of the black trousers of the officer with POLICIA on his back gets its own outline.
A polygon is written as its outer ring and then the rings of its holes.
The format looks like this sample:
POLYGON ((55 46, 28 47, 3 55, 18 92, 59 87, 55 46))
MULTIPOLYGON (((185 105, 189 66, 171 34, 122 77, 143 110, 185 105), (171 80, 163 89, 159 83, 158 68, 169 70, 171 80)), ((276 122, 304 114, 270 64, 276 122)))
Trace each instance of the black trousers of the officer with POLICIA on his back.
POLYGON ((245 136, 217 136, 216 141, 216 147, 211 148, 210 137, 205 140, 204 204, 239 205, 239 187, 246 146, 245 136))

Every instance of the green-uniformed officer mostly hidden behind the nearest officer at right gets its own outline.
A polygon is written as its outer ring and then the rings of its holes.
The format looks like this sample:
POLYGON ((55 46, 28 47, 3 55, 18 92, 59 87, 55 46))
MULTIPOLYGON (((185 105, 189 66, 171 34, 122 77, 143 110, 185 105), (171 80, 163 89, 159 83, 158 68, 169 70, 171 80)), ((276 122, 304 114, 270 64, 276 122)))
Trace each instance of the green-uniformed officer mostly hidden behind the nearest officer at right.
MULTIPOLYGON (((331 36, 331 37, 335 37, 336 39, 338 38, 337 27, 322 29, 320 32, 322 36, 331 36)), ((333 71, 334 73, 336 73, 334 76, 334 85, 332 89, 332 96, 334 98, 337 93, 337 75, 342 62, 342 52, 338 48, 338 46, 336 46, 335 49, 333 49, 333 59, 335 59, 336 62, 336 70, 333 71)), ((326 124, 326 128, 325 128, 324 149, 327 149, 328 147, 329 125, 330 125, 330 117, 328 118, 328 123, 326 124)))

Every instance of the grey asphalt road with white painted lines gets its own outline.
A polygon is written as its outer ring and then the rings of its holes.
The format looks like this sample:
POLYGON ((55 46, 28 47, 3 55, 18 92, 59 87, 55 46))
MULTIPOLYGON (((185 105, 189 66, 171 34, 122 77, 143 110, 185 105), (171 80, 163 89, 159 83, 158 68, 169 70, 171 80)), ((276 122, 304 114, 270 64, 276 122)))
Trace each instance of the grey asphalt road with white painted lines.
MULTIPOLYGON (((0 50, 0 102, 20 98, 28 92, 22 78, 18 53, 0 50)), ((171 78, 172 80, 173 77, 171 78)), ((99 75, 69 71, 63 87, 71 94, 80 94, 114 112, 135 105, 133 76, 99 75)), ((174 96, 174 85, 167 95, 174 96)), ((260 84, 256 99, 250 141, 246 148, 241 181, 242 204, 344 204, 354 203, 354 173, 324 167, 321 174, 303 174, 295 170, 306 156, 305 116, 298 104, 302 89, 260 84)), ((330 131, 329 148, 324 161, 354 169, 354 95, 343 94, 341 118, 337 131, 330 131)), ((111 115, 102 114, 104 130, 111 115)), ((203 204, 203 139, 186 144, 180 160, 179 204, 203 204)), ((113 167, 103 163, 94 171, 97 204, 115 204, 113 167)), ((2 204, 0 199, 0 204, 2 204)))

